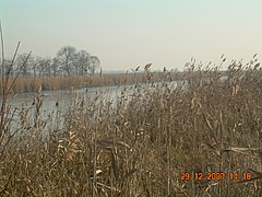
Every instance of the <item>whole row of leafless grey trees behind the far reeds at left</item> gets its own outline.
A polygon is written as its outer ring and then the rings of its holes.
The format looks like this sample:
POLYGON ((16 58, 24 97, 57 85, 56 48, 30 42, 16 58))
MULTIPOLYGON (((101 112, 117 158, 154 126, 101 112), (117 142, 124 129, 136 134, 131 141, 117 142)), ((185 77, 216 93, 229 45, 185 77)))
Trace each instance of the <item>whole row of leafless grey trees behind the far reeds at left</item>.
MULTIPOLYGON (((72 46, 61 47, 53 58, 31 56, 24 63, 27 56, 27 54, 17 55, 10 71, 11 77, 14 77, 20 68, 22 68, 22 77, 85 76, 95 74, 100 69, 98 57, 92 56, 86 50, 76 51, 72 46)), ((1 67, 8 68, 10 63, 11 60, 4 59, 1 67)))

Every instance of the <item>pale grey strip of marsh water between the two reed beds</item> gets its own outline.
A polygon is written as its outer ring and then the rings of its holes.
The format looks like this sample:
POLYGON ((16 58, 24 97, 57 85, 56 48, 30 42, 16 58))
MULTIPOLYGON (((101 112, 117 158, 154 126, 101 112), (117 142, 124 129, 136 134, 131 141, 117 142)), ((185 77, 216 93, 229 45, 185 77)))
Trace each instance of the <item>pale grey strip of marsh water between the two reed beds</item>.
MULTIPOLYGON (((143 89, 154 90, 153 86, 177 86, 177 81, 172 82, 155 82, 153 83, 141 83, 136 86, 141 92, 143 89)), ((98 86, 98 88, 81 88, 81 89, 71 89, 71 90, 57 90, 57 91, 43 91, 40 95, 41 102, 41 117, 45 119, 48 116, 55 116, 59 111, 60 114, 66 114, 70 106, 75 105, 75 102, 80 102, 85 97, 86 102, 93 101, 97 99, 98 102, 103 102, 104 104, 107 102, 111 102, 115 106, 121 96, 130 101, 132 99, 133 93, 138 90, 135 84, 130 85, 114 85, 114 86, 98 86)), ((17 125, 21 124, 21 112, 24 111, 27 113, 31 121, 34 119, 36 107, 34 105, 34 99, 36 96, 35 92, 32 93, 21 93, 16 95, 10 96, 9 104, 12 108, 15 109, 15 114, 13 117, 12 127, 16 128, 17 125)), ((62 116, 60 116, 62 117, 62 116)))

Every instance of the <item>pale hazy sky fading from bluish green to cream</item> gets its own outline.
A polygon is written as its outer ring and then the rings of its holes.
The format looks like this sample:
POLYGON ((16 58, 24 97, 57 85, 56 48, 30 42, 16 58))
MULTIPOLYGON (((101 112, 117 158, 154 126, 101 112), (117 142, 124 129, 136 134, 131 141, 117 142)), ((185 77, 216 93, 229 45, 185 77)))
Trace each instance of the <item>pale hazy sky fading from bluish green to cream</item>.
POLYGON ((243 62, 262 53, 261 0, 0 0, 4 55, 55 57, 67 45, 104 70, 243 62))

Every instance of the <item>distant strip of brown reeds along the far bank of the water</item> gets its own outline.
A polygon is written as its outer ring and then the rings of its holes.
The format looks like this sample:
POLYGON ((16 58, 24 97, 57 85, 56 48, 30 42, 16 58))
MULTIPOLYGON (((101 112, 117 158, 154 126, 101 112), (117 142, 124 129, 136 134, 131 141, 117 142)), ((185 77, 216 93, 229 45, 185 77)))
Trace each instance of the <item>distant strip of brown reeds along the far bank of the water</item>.
MULTIPOLYGON (((175 76, 175 74, 172 74, 175 76)), ((122 85, 132 84, 135 82, 146 82, 148 76, 144 72, 131 72, 131 73, 105 73, 84 77, 19 77, 16 82, 12 86, 14 94, 22 92, 35 92, 40 85, 44 91, 48 90, 67 90, 74 88, 92 88, 104 85, 122 85)), ((163 78, 162 72, 151 72, 151 81, 159 81, 163 78)), ((13 79, 10 80, 10 84, 13 79)), ((2 86, 0 85, 0 91, 2 86)))

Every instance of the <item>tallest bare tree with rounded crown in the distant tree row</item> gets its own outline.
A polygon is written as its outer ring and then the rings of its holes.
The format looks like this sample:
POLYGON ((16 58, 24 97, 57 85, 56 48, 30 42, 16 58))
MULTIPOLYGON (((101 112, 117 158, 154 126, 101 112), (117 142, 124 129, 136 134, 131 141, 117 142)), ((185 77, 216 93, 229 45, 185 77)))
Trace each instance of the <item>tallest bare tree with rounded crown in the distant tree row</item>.
POLYGON ((64 46, 57 54, 57 58, 61 63, 61 69, 63 69, 68 76, 72 72, 72 67, 75 60, 75 51, 76 49, 74 47, 64 46))

